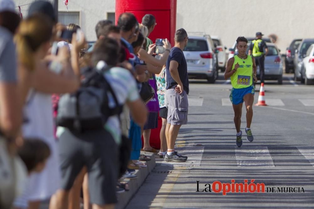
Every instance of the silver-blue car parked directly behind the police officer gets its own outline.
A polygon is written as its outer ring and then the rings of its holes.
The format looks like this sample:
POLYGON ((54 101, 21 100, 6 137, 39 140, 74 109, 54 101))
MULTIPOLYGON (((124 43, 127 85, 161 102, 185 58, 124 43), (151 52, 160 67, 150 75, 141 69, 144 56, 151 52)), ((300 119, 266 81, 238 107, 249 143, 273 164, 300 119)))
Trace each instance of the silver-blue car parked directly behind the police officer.
MULTIPOLYGON (((264 80, 277 80, 282 84, 283 61, 280 50, 273 43, 266 42, 268 53, 265 57, 264 80)), ((257 79, 260 79, 260 69, 257 66, 257 79)))

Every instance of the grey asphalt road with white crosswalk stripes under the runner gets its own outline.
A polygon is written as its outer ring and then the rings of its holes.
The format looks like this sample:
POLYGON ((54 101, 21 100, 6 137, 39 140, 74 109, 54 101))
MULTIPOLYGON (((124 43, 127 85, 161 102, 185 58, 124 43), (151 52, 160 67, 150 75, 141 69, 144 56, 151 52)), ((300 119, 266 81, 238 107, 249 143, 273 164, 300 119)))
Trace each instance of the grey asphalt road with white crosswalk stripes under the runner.
POLYGON ((241 148, 236 147, 230 82, 223 74, 215 84, 192 80, 188 124, 181 127, 176 141, 176 149, 188 160, 158 159, 127 209, 314 208, 314 86, 292 79, 292 74, 284 74, 283 85, 265 82, 268 106, 253 107, 253 142, 246 140, 243 108, 241 148), (242 184, 254 179, 265 190, 274 187, 279 192, 214 192, 214 181, 231 184, 232 179, 242 184), (205 192, 209 185, 211 192, 205 192))

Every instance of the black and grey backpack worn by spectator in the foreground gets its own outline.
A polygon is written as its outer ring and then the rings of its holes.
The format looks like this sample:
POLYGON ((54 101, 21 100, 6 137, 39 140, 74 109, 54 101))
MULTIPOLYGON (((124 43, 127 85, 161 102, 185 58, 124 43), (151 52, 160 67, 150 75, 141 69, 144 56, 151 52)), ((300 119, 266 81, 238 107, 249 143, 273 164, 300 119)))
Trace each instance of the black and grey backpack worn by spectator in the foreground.
POLYGON ((58 103, 57 125, 72 131, 83 132, 101 130, 108 118, 120 115, 123 106, 119 105, 116 95, 103 72, 110 67, 105 62, 101 67, 85 69, 80 88, 74 93, 64 94, 58 103), (115 107, 109 107, 112 95, 115 107))

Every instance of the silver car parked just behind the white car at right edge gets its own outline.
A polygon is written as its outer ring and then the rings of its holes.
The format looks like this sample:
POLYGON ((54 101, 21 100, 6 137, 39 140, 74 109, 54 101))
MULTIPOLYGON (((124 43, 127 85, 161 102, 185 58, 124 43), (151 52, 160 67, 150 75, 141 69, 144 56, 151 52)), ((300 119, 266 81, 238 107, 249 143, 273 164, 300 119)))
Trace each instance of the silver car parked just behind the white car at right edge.
POLYGON ((294 80, 301 80, 302 60, 304 59, 309 47, 314 44, 314 39, 302 39, 299 47, 295 50, 294 57, 294 80))

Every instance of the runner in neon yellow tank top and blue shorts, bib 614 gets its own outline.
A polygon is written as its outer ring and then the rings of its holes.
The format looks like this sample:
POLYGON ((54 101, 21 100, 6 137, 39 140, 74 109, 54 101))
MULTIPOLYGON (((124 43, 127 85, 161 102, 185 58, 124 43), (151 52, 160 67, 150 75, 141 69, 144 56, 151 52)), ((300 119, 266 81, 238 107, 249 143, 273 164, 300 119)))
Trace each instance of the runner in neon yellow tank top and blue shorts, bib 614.
POLYGON ((254 86, 252 84, 253 78, 254 82, 257 82, 257 78, 255 60, 251 55, 246 54, 247 39, 243 36, 238 37, 236 43, 239 54, 228 60, 225 79, 230 78, 233 87, 230 93, 230 101, 235 112, 236 145, 241 147, 242 131, 240 127, 243 101, 246 107, 246 139, 249 142, 252 142, 254 139, 251 131, 252 105, 254 102, 254 86))

